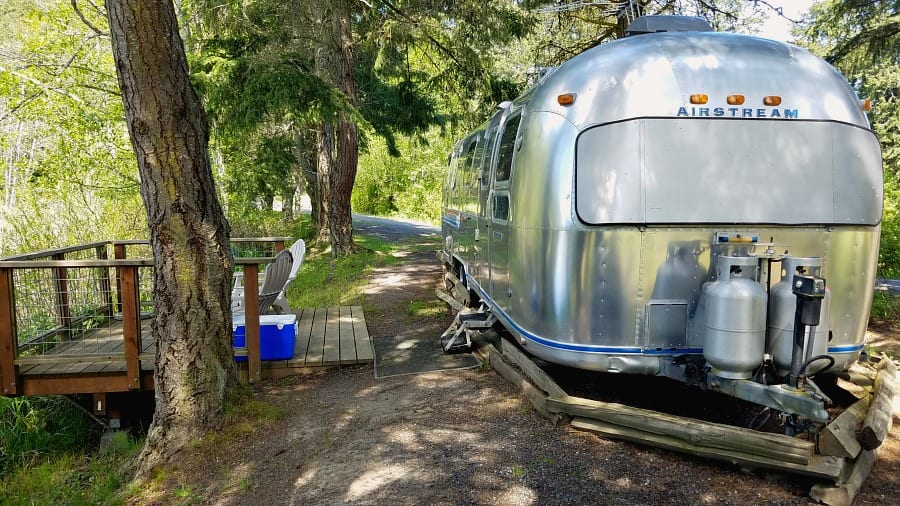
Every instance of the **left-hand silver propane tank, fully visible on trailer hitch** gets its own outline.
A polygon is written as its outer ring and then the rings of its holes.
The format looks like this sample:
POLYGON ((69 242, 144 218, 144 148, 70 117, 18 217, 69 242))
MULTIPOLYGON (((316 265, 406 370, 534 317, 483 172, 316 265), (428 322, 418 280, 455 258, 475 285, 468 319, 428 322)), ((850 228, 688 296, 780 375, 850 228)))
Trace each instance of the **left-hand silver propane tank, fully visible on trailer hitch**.
POLYGON ((716 281, 704 283, 706 304, 703 356, 712 374, 748 379, 763 360, 766 345, 766 291, 756 278, 753 257, 720 256, 716 281))

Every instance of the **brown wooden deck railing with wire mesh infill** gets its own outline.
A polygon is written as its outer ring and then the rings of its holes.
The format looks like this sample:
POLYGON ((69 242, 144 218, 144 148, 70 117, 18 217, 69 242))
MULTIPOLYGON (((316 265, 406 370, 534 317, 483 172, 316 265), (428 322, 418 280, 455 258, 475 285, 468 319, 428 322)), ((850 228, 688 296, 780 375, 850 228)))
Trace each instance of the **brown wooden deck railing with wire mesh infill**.
MULTIPOLYGON (((236 269, 244 274, 251 381, 260 378, 259 265, 286 240, 232 239, 236 269)), ((154 361, 141 325, 153 311, 151 258, 147 241, 105 241, 0 259, 0 392, 46 393, 23 384, 20 368, 72 375, 88 364, 96 372, 103 372, 97 364, 119 364, 121 370, 123 362, 123 377, 109 391, 123 382, 126 389, 142 388, 141 362, 152 370, 147 365, 154 361)))

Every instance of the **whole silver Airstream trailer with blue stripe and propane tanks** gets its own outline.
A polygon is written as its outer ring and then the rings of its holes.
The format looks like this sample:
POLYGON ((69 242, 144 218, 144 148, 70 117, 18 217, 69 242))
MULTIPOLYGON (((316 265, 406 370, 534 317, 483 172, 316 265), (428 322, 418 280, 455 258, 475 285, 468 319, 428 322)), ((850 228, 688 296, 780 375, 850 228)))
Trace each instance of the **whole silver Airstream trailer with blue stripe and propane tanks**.
POLYGON ((859 358, 879 244, 864 107, 796 46, 629 30, 457 143, 441 256, 475 309, 446 346, 497 321, 549 362, 826 421, 806 377, 859 358))

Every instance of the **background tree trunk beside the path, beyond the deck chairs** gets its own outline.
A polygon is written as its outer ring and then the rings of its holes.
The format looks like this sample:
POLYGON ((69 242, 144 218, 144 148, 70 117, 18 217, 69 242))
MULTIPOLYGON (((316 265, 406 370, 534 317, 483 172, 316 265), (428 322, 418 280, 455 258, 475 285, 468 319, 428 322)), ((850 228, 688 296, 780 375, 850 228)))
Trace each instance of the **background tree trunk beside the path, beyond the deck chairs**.
MULTIPOLYGON (((329 8, 318 10, 314 19, 324 28, 320 31, 321 45, 316 51, 316 69, 326 82, 338 88, 350 106, 356 102, 356 82, 353 74, 353 27, 350 5, 337 0, 329 8)), ((332 256, 344 256, 356 251, 353 242, 353 220, 350 194, 356 181, 359 141, 356 124, 347 111, 338 111, 335 121, 324 122, 316 136, 319 152, 316 169, 322 215, 319 221, 319 240, 328 240, 332 256)))

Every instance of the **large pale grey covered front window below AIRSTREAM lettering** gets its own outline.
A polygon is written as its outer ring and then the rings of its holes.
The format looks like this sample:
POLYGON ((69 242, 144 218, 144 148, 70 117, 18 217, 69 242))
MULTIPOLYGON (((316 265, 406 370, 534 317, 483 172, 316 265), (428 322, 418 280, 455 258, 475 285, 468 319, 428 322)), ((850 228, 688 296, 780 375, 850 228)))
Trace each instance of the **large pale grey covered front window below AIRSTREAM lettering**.
POLYGON ((880 148, 843 123, 646 118, 576 145, 581 221, 859 224, 881 220, 880 148))

